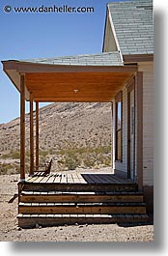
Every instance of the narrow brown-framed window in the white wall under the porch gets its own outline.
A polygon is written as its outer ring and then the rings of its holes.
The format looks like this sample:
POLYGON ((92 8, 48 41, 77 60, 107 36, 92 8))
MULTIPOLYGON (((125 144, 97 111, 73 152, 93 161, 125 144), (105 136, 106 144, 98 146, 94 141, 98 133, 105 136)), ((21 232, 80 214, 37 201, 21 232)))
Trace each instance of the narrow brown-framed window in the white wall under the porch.
POLYGON ((122 161, 122 93, 116 97, 116 160, 122 161))

